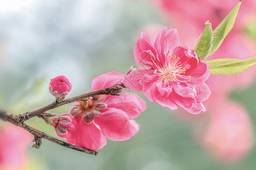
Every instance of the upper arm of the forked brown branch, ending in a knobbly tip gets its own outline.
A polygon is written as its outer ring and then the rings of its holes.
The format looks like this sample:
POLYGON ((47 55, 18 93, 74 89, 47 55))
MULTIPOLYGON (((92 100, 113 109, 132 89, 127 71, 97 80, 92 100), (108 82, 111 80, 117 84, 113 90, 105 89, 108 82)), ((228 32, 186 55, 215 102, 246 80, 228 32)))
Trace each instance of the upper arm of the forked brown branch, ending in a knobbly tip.
POLYGON ((31 117, 41 117, 41 114, 43 112, 49 111, 51 109, 60 107, 61 105, 65 105, 65 104, 69 104, 69 103, 73 103, 75 101, 80 101, 82 99, 85 99, 87 97, 92 97, 92 96, 97 96, 97 95, 113 95, 113 96, 119 96, 121 94, 121 92, 123 91, 123 88, 126 88, 123 83, 121 84, 117 84, 115 86, 111 86, 111 87, 106 87, 100 90, 96 90, 96 91, 92 91, 92 92, 85 92, 81 95, 78 96, 73 96, 70 97, 68 99, 65 99, 63 101, 61 101, 60 103, 57 103, 56 101, 52 102, 51 104, 46 105, 45 107, 36 109, 35 111, 31 111, 31 112, 27 112, 27 113, 23 113, 23 114, 19 114, 19 121, 26 121, 28 119, 30 119, 31 117))

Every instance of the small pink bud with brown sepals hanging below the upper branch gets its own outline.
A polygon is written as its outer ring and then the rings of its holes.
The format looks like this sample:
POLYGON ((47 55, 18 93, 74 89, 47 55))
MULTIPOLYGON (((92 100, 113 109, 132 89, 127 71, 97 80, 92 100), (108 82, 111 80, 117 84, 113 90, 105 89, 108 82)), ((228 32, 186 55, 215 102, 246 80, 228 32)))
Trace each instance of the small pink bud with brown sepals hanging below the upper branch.
POLYGON ((77 122, 71 114, 61 114, 59 117, 52 118, 52 126, 55 128, 57 135, 61 138, 68 137, 76 130, 77 122))

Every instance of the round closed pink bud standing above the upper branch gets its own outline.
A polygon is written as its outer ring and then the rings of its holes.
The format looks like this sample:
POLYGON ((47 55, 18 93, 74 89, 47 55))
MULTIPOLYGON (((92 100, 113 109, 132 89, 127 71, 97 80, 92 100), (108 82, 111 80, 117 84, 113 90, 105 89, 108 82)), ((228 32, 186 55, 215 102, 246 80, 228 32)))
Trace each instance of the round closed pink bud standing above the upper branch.
POLYGON ((56 76, 56 78, 51 79, 49 83, 49 92, 56 97, 57 101, 63 100, 65 96, 68 95, 71 88, 71 83, 64 75, 56 76))

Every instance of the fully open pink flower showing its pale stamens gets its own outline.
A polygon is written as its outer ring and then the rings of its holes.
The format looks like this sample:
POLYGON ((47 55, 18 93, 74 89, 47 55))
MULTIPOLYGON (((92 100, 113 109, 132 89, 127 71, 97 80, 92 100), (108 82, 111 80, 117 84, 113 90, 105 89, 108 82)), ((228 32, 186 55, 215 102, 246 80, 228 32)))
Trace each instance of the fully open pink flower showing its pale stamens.
POLYGON ((187 46, 179 46, 176 29, 162 29, 154 43, 147 33, 141 34, 134 48, 135 61, 150 69, 131 71, 123 82, 126 87, 143 94, 164 107, 177 105, 193 114, 205 111, 202 101, 210 90, 205 84, 209 66, 187 46))

